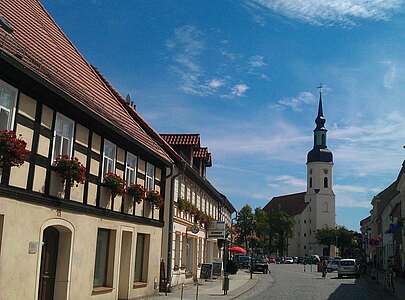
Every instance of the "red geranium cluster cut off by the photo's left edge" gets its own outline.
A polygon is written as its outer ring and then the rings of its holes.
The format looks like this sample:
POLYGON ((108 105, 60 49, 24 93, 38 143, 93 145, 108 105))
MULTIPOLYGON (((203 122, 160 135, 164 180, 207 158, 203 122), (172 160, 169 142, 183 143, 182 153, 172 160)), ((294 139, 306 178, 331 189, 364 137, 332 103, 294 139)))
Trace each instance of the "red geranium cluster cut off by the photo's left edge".
POLYGON ((19 167, 28 158, 27 143, 14 131, 0 131, 0 167, 19 167))

